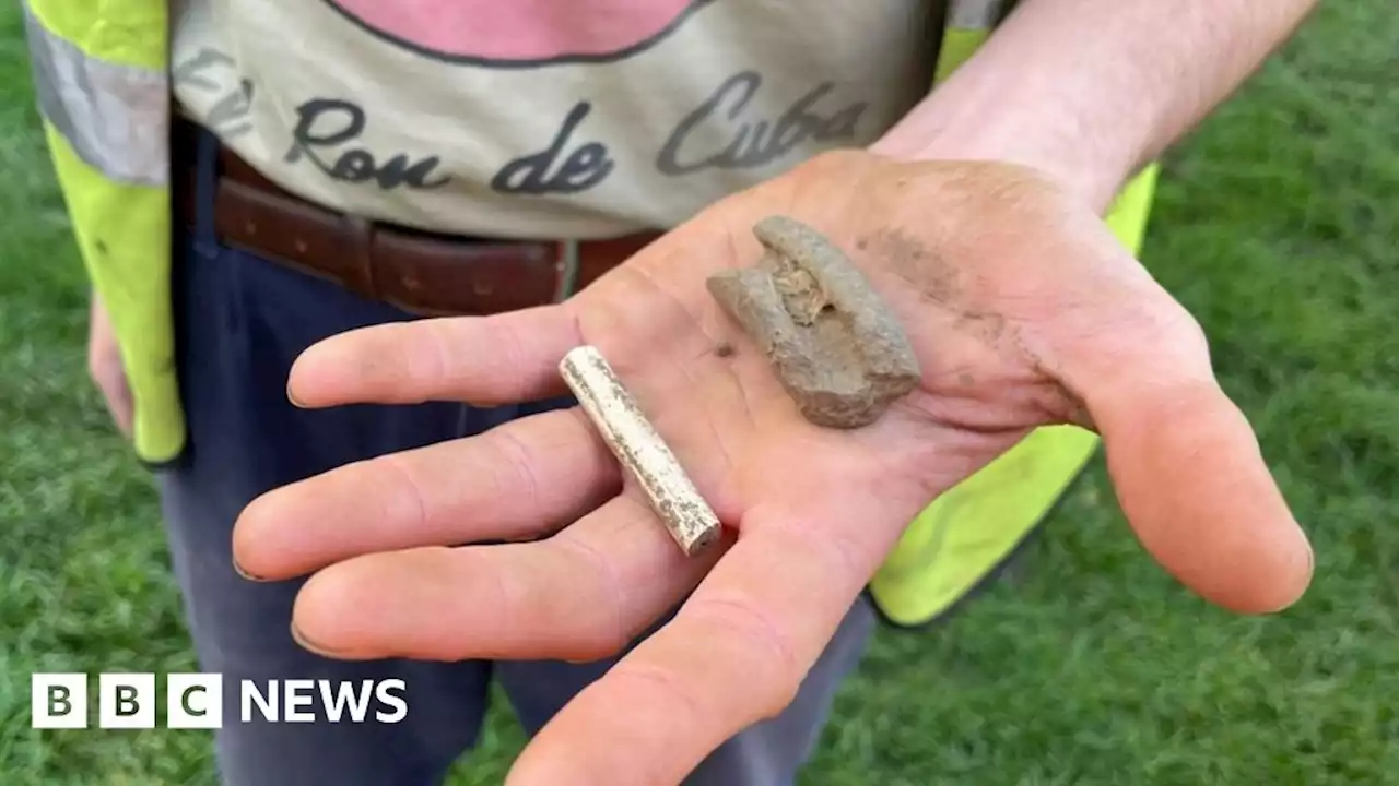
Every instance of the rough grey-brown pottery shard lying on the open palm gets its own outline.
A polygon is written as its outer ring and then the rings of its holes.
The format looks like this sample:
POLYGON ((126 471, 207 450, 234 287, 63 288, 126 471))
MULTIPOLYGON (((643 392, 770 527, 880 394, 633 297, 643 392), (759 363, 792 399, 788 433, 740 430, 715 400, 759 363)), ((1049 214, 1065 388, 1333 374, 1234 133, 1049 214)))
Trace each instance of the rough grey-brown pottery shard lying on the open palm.
POLYGON ((753 228, 767 253, 709 277, 709 294, 753 338, 810 422, 859 428, 922 378, 902 327, 841 249, 775 215, 753 228))

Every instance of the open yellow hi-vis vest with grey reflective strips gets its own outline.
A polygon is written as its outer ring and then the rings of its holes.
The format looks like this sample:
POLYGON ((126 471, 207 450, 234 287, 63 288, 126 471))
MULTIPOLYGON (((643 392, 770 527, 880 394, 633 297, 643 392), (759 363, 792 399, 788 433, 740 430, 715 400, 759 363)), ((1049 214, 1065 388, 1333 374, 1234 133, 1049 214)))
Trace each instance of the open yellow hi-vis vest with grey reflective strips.
MULTIPOLYGON (((24 0, 43 131, 92 288, 106 305, 136 406, 134 450, 183 452, 171 309, 168 0, 24 0)), ((1000 0, 953 0, 937 80, 1000 18, 1000 0)), ((1122 194, 1109 224, 1136 252, 1156 169, 1122 194)), ((1097 450, 1076 427, 1041 428, 937 498, 869 587, 884 618, 921 625, 992 576, 1097 450)))

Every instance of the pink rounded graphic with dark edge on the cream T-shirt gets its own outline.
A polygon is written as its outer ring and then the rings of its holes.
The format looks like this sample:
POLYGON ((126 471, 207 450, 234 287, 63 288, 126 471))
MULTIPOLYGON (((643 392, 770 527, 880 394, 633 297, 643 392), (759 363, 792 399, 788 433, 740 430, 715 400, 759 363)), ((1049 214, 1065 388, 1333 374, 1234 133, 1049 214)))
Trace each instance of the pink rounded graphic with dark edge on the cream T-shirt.
POLYGON ((712 0, 326 0, 379 38, 442 60, 541 66, 628 57, 712 0))

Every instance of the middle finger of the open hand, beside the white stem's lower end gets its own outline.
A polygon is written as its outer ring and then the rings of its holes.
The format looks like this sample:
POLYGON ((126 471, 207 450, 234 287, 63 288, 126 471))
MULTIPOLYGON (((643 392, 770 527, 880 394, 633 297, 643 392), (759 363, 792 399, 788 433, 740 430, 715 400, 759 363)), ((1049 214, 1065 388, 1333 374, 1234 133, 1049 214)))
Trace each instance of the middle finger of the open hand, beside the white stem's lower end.
POLYGON ((623 494, 541 541, 332 565, 302 587, 292 624, 308 648, 351 660, 597 660, 679 603, 720 552, 684 557, 623 494))

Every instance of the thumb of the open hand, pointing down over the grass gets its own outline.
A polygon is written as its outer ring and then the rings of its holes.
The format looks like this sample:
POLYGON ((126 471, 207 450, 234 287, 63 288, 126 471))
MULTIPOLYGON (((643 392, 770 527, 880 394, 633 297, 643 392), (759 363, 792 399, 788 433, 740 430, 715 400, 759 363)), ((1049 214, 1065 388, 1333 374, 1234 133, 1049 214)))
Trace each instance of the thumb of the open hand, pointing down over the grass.
POLYGON ((1209 383, 1123 389, 1090 404, 1118 502, 1178 580, 1231 611, 1279 611, 1312 552, 1244 414, 1209 383))

